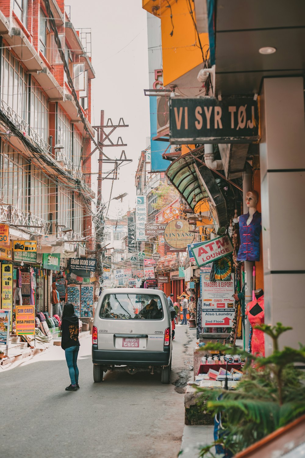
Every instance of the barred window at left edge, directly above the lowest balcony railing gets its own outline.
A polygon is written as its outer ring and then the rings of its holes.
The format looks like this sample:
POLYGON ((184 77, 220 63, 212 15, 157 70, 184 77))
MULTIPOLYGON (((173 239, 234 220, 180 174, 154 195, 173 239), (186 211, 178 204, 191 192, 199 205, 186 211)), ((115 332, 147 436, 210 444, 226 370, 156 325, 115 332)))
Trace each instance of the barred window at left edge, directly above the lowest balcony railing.
POLYGON ((3 143, 0 155, 0 201, 27 213, 28 165, 3 143))

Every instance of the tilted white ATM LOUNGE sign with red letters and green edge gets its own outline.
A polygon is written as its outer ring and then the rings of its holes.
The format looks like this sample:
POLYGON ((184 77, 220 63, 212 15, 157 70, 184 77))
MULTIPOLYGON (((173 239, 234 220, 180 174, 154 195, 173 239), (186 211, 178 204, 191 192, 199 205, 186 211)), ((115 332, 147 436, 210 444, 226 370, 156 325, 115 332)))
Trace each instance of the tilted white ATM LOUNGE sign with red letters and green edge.
POLYGON ((232 253, 233 245, 228 235, 222 235, 213 240, 205 240, 202 243, 194 244, 191 247, 191 251, 196 264, 200 267, 232 253))

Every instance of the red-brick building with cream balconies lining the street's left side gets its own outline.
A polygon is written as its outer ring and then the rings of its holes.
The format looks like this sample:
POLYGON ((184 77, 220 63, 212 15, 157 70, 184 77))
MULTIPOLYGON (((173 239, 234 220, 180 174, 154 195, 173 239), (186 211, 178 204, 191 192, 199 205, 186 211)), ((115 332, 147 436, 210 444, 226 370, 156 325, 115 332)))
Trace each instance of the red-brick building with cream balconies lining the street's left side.
MULTIPOLYGON (((63 0, 0 2, 0 223, 9 227, 0 260, 14 268, 46 267, 49 253, 59 255, 65 270, 70 257, 91 257, 94 250, 89 153, 95 73, 82 39, 90 32, 76 31, 67 12, 63 0), (37 241, 35 263, 16 255, 14 240, 37 241)), ((53 277, 46 277, 37 309, 51 308, 53 277)))

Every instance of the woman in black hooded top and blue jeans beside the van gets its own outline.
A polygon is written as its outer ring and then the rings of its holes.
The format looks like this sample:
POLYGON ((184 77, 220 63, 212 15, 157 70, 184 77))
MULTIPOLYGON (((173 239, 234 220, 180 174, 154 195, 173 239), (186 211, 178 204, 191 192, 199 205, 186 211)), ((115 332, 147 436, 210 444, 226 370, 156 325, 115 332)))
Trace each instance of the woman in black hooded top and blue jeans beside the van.
POLYGON ((61 348, 64 349, 71 384, 66 387, 66 391, 77 391, 80 389, 78 384, 77 355, 80 349, 78 340, 79 326, 78 317, 74 313, 74 306, 70 302, 64 305, 61 323, 61 348))

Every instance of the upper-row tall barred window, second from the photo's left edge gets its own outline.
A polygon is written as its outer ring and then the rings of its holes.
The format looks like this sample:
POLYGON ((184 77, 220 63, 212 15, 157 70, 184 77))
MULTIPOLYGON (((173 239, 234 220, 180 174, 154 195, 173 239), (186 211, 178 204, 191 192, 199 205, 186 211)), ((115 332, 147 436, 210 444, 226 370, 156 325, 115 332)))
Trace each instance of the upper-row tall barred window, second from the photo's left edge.
POLYGON ((30 120, 31 127, 43 140, 48 142, 48 98, 33 79, 31 82, 30 120))

